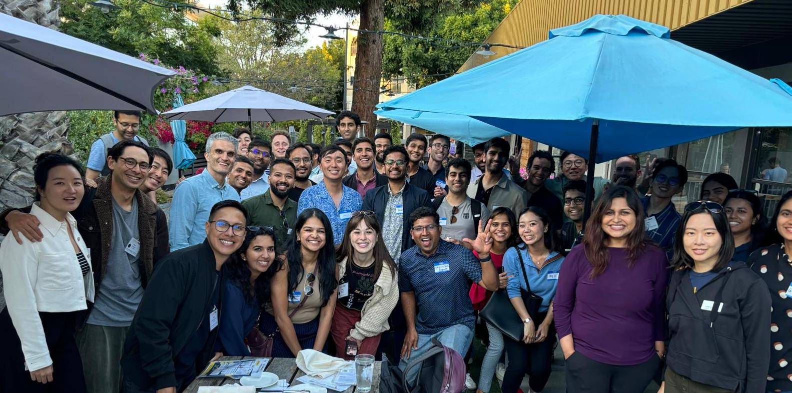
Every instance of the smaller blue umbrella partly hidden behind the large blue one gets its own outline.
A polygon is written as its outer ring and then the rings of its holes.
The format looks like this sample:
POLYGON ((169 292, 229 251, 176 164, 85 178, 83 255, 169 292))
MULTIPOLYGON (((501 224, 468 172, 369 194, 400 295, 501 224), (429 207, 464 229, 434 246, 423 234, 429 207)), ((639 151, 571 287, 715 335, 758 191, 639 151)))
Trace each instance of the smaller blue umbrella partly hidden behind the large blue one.
POLYGON ((374 113, 379 116, 387 117, 388 119, 398 120, 402 123, 411 124, 431 132, 461 140, 470 146, 486 142, 498 136, 511 135, 511 132, 504 131, 491 124, 486 124, 482 120, 476 120, 470 116, 464 115, 411 111, 406 109, 380 109, 374 113))

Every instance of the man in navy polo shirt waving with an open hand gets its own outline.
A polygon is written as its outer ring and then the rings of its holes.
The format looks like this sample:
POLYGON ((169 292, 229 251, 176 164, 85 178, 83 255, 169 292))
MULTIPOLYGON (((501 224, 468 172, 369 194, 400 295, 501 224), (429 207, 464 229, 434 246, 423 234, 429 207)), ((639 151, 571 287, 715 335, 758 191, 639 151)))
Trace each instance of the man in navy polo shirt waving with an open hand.
MULTIPOLYGON (((399 258, 398 277, 407 320, 404 361, 399 364, 402 369, 432 346, 432 338, 464 357, 476 320, 467 280, 489 290, 498 286, 489 253, 477 259, 465 247, 442 240, 440 217, 432 209, 415 209, 409 221, 416 246, 399 258)), ((482 233, 476 242, 491 244, 492 238, 482 233)))

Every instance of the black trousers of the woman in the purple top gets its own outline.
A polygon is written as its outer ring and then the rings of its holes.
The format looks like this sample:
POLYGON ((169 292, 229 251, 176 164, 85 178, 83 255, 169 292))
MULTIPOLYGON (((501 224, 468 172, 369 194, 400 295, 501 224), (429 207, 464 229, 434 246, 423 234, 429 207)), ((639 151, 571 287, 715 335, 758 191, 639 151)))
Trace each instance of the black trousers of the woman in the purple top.
POLYGON ((580 351, 575 351, 566 360, 566 391, 574 393, 645 391, 660 364, 660 357, 657 356, 641 364, 630 366, 604 364, 585 357, 580 351))

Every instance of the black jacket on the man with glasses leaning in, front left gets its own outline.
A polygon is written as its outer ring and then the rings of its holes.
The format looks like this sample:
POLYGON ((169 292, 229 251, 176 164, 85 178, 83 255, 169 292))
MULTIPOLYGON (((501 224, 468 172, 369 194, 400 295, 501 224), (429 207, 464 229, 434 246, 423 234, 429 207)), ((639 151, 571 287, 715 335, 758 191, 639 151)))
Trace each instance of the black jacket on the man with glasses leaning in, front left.
MULTIPOLYGON (((173 251, 160 261, 127 330, 121 357, 124 376, 142 388, 178 389, 183 381, 176 380, 173 359, 203 319, 209 318, 215 285, 223 288, 224 276, 220 274, 218 279, 208 240, 173 251)), ((222 304, 220 301, 217 305, 218 320, 222 318, 222 304)), ((218 330, 211 330, 205 346, 208 349, 196 364, 203 366, 211 358, 218 330)))

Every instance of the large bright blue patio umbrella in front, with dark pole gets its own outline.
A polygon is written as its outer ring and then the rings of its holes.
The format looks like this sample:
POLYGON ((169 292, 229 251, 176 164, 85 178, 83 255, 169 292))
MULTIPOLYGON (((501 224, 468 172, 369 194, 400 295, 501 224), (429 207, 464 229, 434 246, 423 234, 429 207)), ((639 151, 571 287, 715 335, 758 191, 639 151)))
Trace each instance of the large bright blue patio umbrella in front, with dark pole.
POLYGON ((661 25, 596 15, 378 107, 470 116, 590 158, 590 174, 595 162, 622 155, 792 126, 789 86, 670 36, 661 25))

